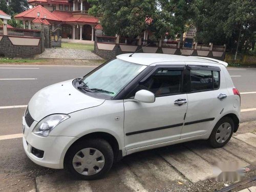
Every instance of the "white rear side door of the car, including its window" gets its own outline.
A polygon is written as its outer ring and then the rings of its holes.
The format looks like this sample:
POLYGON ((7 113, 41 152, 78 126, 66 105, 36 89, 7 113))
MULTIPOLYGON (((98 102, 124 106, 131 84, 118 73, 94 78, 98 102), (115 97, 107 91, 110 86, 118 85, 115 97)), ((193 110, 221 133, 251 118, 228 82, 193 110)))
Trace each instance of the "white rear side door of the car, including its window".
POLYGON ((181 139, 206 134, 225 108, 228 95, 223 71, 216 66, 186 62, 188 108, 181 139))

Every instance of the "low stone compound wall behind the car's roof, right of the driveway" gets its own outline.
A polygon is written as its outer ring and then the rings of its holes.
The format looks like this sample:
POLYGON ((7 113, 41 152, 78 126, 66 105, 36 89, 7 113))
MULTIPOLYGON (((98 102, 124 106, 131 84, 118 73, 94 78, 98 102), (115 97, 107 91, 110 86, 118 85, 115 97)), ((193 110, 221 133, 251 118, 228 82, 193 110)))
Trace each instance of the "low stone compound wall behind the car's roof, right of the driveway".
MULTIPOLYGON (((140 50, 140 51, 138 51, 138 53, 143 53, 143 50, 141 48, 142 48, 141 46, 137 46, 136 51, 140 50)), ((169 49, 169 48, 167 48, 167 49, 169 49)), ((94 50, 95 50, 95 54, 99 55, 101 58, 104 58, 106 60, 112 59, 115 56, 120 55, 120 54, 133 53, 133 52, 122 51, 119 44, 115 44, 115 47, 113 50, 99 49, 98 45, 97 45, 97 41, 95 41, 95 43, 94 43, 94 50)), ((215 58, 215 59, 219 59, 219 60, 225 59, 225 52, 202 51, 202 50, 192 50, 191 51, 188 49, 173 49, 173 50, 175 50, 173 53, 174 55, 190 56, 190 53, 191 53, 191 56, 204 56, 204 57, 210 57, 210 58, 215 58), (184 54, 182 54, 182 52, 184 54), (189 54, 187 54, 185 52, 189 52, 189 54), (214 56, 214 55, 221 55, 221 56, 214 56)), ((158 47, 155 53, 163 53, 162 48, 158 47)))

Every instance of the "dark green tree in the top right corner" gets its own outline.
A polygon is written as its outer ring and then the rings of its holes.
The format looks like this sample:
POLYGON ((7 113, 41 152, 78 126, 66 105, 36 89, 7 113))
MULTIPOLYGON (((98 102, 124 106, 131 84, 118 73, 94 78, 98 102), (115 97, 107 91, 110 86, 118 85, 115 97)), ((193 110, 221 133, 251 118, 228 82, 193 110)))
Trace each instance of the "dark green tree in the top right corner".
POLYGON ((240 29, 240 47, 244 52, 255 42, 256 2, 254 0, 195 0, 192 23, 197 28, 196 40, 226 44, 236 50, 240 29))

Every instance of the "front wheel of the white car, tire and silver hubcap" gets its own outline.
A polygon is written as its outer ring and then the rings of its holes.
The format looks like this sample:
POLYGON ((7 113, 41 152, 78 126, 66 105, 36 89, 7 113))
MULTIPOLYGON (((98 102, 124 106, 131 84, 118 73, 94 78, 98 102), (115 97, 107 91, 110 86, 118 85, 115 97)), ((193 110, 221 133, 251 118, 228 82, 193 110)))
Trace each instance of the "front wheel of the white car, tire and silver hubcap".
POLYGON ((103 139, 80 141, 67 152, 65 165, 78 178, 94 180, 102 178, 113 165, 111 145, 103 139))

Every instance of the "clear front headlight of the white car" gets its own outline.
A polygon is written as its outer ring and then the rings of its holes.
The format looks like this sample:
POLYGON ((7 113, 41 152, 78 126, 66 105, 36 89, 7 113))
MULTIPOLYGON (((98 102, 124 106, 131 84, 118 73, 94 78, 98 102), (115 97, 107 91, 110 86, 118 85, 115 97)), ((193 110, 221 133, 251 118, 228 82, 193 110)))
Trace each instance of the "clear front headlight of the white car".
POLYGON ((55 126, 68 118, 70 118, 70 116, 65 114, 49 115, 35 125, 33 133, 42 137, 47 137, 55 126))

